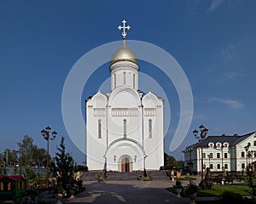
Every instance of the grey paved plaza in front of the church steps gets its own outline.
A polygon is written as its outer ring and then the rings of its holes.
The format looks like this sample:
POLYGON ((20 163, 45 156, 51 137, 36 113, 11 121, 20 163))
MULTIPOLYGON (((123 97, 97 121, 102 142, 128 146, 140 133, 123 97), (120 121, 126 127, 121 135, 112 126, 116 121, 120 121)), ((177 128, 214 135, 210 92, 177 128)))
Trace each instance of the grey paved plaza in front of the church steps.
MULTIPOLYGON (((62 203, 189 203, 188 198, 179 198, 167 191, 171 181, 107 181, 84 182, 86 190, 73 199, 63 199, 62 203)), ((55 199, 49 199, 55 203, 55 199)))

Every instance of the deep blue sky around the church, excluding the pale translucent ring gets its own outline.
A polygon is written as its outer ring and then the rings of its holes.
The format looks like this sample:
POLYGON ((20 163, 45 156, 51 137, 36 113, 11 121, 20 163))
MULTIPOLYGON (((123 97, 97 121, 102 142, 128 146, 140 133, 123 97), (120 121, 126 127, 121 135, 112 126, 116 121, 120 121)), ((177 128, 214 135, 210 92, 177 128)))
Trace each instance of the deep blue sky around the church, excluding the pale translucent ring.
MULTIPOLYGON (((166 153, 181 159, 181 150, 196 142, 192 131, 201 123, 209 135, 255 131, 255 8, 253 0, 1 1, 0 151, 17 149, 26 134, 46 148, 40 131, 49 125, 59 133, 50 152, 55 152, 63 135, 76 161, 84 161, 62 121, 62 88, 80 57, 121 40, 117 26, 123 19, 131 26, 127 38, 153 43, 172 54, 192 88, 190 131, 183 144, 169 152, 179 119, 177 93, 165 76, 154 75, 157 69, 141 65, 141 71, 155 76, 161 86, 169 84, 172 120, 166 153)), ((108 77, 108 65, 90 77, 82 107, 108 77)))

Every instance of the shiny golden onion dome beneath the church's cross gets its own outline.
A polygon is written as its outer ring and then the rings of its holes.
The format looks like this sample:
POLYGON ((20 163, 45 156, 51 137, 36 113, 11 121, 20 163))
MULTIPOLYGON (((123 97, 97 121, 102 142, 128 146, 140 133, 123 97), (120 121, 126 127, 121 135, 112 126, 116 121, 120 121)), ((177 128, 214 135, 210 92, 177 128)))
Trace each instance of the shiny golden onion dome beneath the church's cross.
POLYGON ((118 48, 112 55, 111 65, 118 61, 131 61, 138 65, 136 54, 131 50, 131 48, 126 46, 125 40, 123 41, 122 47, 118 48))

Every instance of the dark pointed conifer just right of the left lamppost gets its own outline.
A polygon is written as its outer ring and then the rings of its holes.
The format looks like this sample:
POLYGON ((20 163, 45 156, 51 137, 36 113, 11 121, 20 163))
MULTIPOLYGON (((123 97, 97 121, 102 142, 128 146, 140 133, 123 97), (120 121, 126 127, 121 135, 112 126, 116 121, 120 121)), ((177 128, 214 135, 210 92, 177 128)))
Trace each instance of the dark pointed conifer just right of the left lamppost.
POLYGON ((57 178, 58 190, 67 190, 67 184, 73 184, 74 160, 73 157, 66 152, 64 138, 61 137, 61 144, 57 147, 55 161, 50 164, 51 171, 57 178))

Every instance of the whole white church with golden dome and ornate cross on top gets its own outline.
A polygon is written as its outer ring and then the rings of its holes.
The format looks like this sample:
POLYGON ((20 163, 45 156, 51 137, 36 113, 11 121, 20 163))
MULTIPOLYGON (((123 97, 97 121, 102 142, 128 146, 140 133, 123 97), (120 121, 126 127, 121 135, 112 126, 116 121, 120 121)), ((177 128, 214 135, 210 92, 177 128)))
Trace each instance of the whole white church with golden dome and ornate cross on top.
POLYGON ((123 43, 109 66, 111 91, 86 99, 86 157, 89 170, 131 172, 164 165, 164 101, 138 88, 137 55, 123 43))

